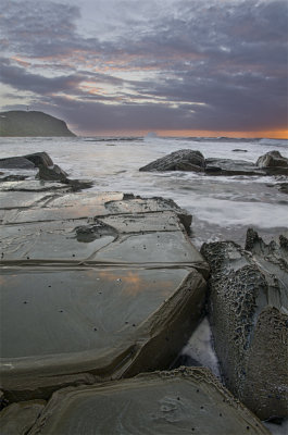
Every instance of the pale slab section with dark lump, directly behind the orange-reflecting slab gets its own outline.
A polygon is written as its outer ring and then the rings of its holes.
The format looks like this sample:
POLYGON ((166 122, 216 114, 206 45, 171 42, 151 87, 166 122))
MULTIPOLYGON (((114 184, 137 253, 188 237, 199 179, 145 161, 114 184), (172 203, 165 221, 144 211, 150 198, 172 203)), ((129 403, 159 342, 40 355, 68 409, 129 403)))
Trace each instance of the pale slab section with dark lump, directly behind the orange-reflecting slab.
MULTIPOLYGON (((45 210, 46 209, 39 209, 45 210)), ((65 212, 65 208, 62 210, 65 212)), ((107 215, 0 227, 2 263, 187 264, 205 277, 206 263, 171 211, 107 215)))

